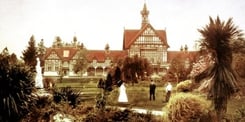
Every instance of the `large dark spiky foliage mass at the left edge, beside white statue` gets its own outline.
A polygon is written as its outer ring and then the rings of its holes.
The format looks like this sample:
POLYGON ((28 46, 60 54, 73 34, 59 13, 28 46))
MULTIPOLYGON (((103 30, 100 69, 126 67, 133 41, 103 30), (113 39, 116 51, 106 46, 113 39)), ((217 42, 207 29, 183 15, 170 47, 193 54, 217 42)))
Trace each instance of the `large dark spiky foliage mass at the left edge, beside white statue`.
POLYGON ((33 105, 33 74, 11 57, 0 54, 0 121, 18 121, 33 105))

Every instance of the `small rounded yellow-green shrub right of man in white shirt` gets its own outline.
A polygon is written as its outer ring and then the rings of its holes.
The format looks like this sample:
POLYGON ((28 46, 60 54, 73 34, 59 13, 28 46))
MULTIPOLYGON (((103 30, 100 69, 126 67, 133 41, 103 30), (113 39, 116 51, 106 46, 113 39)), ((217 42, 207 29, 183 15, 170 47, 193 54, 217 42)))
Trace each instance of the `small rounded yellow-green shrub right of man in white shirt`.
POLYGON ((179 92, 190 92, 192 91, 193 85, 191 80, 181 81, 177 84, 176 90, 179 92))

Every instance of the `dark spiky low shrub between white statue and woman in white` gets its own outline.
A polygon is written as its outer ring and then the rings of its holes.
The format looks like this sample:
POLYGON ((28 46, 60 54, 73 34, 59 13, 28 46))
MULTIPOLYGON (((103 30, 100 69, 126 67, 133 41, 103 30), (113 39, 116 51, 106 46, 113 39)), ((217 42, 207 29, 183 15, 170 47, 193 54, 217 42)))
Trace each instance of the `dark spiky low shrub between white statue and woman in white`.
POLYGON ((68 102, 69 105, 76 107, 79 104, 80 92, 75 91, 71 87, 63 87, 60 89, 55 89, 53 93, 53 98, 55 103, 60 103, 62 101, 68 102))

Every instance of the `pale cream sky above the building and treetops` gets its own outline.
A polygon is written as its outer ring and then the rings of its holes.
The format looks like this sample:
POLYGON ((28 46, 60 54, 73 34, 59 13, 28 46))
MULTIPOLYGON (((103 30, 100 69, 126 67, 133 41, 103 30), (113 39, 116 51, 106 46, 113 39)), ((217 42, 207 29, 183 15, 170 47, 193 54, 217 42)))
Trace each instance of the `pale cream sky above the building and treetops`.
POLYGON ((87 49, 122 50, 123 31, 140 29, 144 2, 149 21, 165 30, 169 50, 190 49, 200 38, 197 29, 209 23, 209 16, 227 21, 232 17, 245 30, 244 0, 0 0, 0 51, 22 56, 32 35, 52 46, 56 36, 71 42, 76 35, 87 49))

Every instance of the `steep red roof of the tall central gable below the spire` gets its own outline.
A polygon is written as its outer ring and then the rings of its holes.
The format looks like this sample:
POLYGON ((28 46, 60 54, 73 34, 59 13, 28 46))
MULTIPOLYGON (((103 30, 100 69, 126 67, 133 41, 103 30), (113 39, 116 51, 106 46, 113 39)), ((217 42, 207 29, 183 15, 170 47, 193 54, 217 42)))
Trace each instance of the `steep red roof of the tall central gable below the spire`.
POLYGON ((123 50, 128 49, 130 45, 132 45, 136 39, 148 28, 150 27, 156 35, 161 39, 164 45, 167 45, 167 36, 165 30, 155 30, 151 24, 145 24, 140 30, 124 30, 123 36, 123 50))

